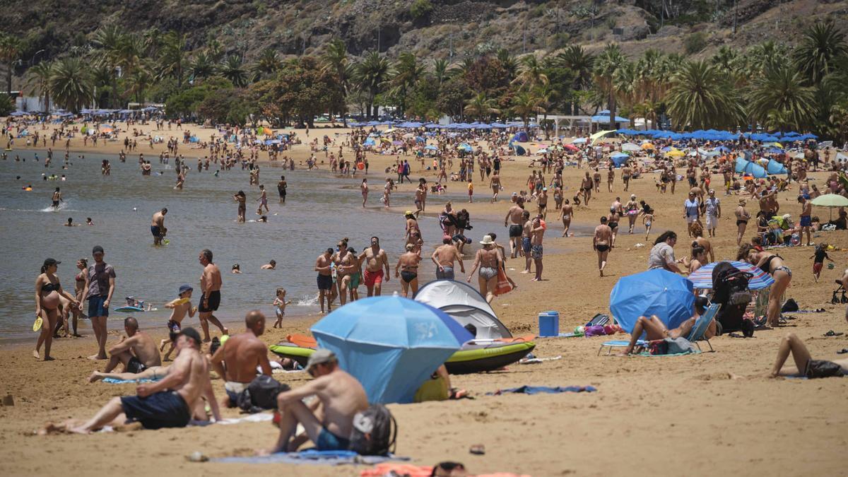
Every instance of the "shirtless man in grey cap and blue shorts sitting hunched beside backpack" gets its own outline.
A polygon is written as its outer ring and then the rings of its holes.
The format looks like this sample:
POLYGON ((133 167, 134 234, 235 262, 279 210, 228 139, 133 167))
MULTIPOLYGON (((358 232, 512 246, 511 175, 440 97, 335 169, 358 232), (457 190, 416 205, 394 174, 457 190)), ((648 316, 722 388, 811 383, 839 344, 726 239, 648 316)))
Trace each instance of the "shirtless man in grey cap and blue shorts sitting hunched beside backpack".
POLYGON ((275 446, 260 453, 293 452, 307 440, 319 451, 348 449, 354 415, 368 407, 362 384, 338 368, 336 355, 329 350, 312 353, 306 371, 315 379, 277 396, 280 437, 275 446), (302 401, 308 396, 318 398, 309 407, 302 401), (298 424, 305 432, 296 436, 298 424))

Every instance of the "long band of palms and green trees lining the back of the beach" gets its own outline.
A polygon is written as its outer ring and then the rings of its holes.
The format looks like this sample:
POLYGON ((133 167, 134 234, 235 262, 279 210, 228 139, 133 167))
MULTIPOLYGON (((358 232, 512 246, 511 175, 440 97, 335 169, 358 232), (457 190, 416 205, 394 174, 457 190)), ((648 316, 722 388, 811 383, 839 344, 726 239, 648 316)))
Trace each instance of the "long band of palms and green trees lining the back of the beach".
MULTIPOLYGON (((690 35, 687 50, 705 42, 705 35, 690 35)), ((268 48, 247 63, 214 36, 189 50, 187 37, 173 31, 104 25, 80 48, 26 70, 25 90, 71 111, 165 102, 171 117, 240 125, 311 124, 315 115, 350 108, 373 119, 379 106, 425 121, 449 115, 525 122, 608 108, 655 124, 666 115, 676 129, 760 125, 848 140, 848 41, 832 22, 811 25, 795 48, 762 42, 722 47, 707 59, 653 49, 628 58, 615 43, 596 55, 572 43, 516 59, 495 44, 451 63, 411 52, 357 58, 335 39, 318 55, 284 59, 268 48)), ((0 36, 0 62, 14 64, 26 48, 0 36)))

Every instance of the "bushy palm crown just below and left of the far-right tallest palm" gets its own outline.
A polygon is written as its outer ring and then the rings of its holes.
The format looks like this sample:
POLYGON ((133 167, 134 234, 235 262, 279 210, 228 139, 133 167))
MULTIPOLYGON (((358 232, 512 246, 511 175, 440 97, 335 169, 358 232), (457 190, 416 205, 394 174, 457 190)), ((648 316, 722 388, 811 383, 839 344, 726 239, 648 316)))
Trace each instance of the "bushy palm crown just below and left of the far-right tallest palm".
POLYGON ((802 129, 812 120, 816 104, 814 88, 803 83, 801 71, 788 65, 770 68, 751 84, 748 98, 751 117, 761 122, 769 117, 779 120, 778 124, 768 126, 781 131, 788 126, 802 129))

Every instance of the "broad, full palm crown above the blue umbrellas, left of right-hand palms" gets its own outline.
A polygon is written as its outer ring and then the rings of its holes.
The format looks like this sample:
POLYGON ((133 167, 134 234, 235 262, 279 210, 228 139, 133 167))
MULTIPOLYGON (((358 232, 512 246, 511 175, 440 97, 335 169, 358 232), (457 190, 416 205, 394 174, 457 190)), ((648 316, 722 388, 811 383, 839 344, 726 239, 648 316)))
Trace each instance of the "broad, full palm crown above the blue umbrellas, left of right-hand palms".
POLYGON ((742 116, 739 98, 704 60, 683 63, 666 100, 678 129, 735 126, 742 116))

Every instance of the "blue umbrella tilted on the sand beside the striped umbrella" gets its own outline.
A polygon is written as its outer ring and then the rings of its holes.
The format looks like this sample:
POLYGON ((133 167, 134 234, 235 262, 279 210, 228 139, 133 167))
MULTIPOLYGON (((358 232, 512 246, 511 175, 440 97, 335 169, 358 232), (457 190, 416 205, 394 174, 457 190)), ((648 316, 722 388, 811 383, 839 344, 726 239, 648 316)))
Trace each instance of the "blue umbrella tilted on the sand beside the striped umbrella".
POLYGON ((639 317, 656 315, 669 329, 692 316, 692 282, 666 270, 649 270, 618 280, 610 293, 610 311, 628 333, 639 317))

